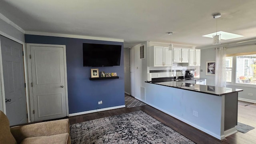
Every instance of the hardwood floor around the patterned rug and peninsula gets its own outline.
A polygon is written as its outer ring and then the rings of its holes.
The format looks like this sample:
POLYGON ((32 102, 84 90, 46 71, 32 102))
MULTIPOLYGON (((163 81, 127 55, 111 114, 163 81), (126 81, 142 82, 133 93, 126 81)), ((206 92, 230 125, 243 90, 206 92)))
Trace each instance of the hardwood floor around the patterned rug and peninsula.
MULTIPOLYGON (((256 110, 256 104, 253 104, 250 106, 253 107, 254 110, 256 110)), ((246 107, 246 108, 250 108, 250 107, 246 107)), ((94 119, 104 118, 108 116, 115 116, 119 114, 135 112, 138 110, 142 110, 143 112, 149 114, 150 116, 154 117, 158 121, 162 122, 166 126, 169 126, 176 132, 179 132, 180 134, 182 134, 186 138, 189 138, 190 140, 192 140, 197 144, 255 144, 256 143, 256 135, 253 135, 256 132, 255 129, 251 130, 252 132, 249 131, 252 134, 250 134, 249 132, 247 132, 246 134, 237 132, 236 134, 228 136, 226 140, 220 142, 220 140, 148 105, 138 106, 134 108, 118 108, 115 110, 107 110, 107 111, 95 112, 91 114, 72 116, 72 117, 69 117, 69 120, 71 125, 79 122, 85 122, 88 120, 94 120, 94 119)), ((250 112, 250 110, 244 110, 244 107, 240 108, 240 106, 238 106, 238 121, 240 120, 241 115, 244 114, 244 111, 250 112), (242 114, 239 114, 239 113, 242 113, 242 114)), ((256 113, 254 114, 256 115, 256 113)), ((244 123, 244 124, 248 124, 255 127, 255 116, 251 116, 251 118, 252 119, 254 118, 254 121, 253 120, 251 122, 247 121, 247 123, 244 123)))

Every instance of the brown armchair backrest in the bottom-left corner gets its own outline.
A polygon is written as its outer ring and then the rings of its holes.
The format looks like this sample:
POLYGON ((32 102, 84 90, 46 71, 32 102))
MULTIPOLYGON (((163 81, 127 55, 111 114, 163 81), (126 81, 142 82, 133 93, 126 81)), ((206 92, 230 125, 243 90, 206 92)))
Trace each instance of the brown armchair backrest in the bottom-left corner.
POLYGON ((10 123, 4 112, 0 111, 0 143, 17 144, 10 131, 10 123))

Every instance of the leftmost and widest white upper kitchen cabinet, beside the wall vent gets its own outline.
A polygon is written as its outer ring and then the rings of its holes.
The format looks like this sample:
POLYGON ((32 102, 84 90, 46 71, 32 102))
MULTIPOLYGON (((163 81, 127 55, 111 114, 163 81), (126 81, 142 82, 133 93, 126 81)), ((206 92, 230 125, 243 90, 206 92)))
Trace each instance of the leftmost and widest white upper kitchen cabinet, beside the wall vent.
POLYGON ((164 46, 152 46, 150 59, 150 66, 172 66, 172 50, 164 46))

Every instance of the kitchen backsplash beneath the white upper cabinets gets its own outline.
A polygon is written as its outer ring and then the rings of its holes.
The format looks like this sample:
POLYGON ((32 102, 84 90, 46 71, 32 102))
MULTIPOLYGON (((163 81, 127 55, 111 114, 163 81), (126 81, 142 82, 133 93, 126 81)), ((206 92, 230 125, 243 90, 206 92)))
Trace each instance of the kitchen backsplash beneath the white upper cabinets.
POLYGON ((149 72, 151 73, 152 78, 176 76, 176 70, 182 70, 184 76, 186 70, 193 70, 194 77, 200 77, 200 66, 182 66, 182 63, 173 63, 172 66, 169 67, 149 67, 149 72), (174 74, 172 70, 174 70, 174 74))

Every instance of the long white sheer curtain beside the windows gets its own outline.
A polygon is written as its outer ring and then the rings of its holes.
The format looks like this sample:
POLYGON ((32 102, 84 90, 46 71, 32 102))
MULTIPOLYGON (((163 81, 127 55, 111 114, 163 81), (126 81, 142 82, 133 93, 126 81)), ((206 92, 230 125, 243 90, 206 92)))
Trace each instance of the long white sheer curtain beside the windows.
POLYGON ((226 48, 216 48, 215 86, 226 87, 226 48))

